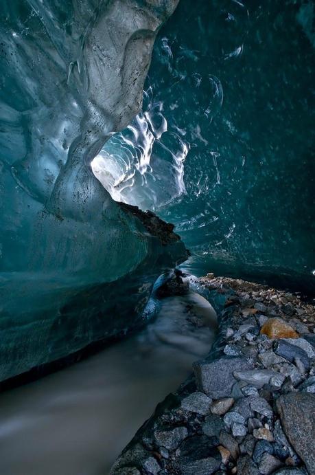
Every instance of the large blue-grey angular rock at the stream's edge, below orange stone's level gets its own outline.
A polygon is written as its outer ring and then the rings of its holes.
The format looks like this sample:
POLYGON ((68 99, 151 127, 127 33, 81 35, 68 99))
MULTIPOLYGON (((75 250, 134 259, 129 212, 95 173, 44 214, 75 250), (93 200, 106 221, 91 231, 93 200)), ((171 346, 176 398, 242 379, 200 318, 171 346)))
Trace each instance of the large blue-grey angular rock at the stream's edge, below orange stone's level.
POLYGON ((230 397, 232 386, 235 383, 233 372, 252 368, 244 357, 221 357, 213 362, 197 362, 194 364, 194 373, 197 386, 209 397, 220 399, 230 397))

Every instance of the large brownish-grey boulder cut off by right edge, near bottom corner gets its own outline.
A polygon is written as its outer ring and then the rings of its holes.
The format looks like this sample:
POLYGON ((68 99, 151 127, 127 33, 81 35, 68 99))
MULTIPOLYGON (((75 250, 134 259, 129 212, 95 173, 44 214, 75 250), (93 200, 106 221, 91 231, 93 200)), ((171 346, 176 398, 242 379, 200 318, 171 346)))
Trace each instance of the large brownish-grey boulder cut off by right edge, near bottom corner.
POLYGON ((315 396, 291 393, 277 399, 283 430, 310 475, 315 474, 315 396))

